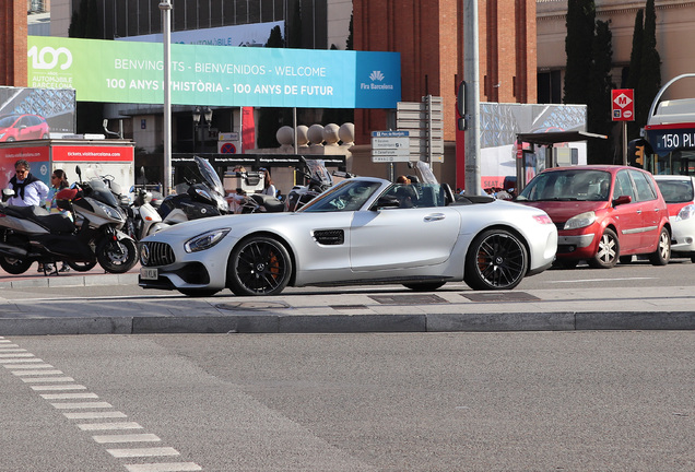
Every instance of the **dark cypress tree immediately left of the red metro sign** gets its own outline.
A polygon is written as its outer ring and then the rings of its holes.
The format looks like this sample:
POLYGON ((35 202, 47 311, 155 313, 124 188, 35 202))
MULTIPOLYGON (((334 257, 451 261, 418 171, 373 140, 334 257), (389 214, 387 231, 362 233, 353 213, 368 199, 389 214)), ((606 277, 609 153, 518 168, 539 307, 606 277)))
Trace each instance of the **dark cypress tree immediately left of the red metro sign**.
MULTIPOLYGON (((613 34, 609 23, 598 21, 591 48, 591 70, 587 101, 587 128, 589 132, 611 135, 611 91, 615 88, 611 76, 613 62, 613 34)), ((612 140, 590 140, 588 148, 589 164, 613 164, 612 140)))

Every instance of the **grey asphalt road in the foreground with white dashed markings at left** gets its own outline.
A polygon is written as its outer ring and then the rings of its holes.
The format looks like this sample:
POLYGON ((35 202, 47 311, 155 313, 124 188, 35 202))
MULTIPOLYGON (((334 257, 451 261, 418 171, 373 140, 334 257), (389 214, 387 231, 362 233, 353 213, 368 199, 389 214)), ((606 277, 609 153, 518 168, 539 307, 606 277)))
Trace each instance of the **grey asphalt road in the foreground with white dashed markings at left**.
POLYGON ((0 471, 691 471, 694 335, 5 337, 0 471))

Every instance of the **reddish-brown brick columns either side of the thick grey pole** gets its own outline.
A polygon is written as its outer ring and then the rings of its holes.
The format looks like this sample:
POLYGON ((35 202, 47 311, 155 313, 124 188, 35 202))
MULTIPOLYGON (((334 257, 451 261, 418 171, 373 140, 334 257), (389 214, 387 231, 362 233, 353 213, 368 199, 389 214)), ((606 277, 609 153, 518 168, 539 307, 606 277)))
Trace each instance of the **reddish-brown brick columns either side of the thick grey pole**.
MULTIPOLYGON (((456 87, 463 79, 460 0, 354 0, 356 50, 401 52, 404 102, 444 99, 445 140, 456 135, 456 87)), ((535 1, 479 3, 481 102, 535 103, 535 1)), ((384 110, 355 110, 356 143, 385 129, 384 110)))

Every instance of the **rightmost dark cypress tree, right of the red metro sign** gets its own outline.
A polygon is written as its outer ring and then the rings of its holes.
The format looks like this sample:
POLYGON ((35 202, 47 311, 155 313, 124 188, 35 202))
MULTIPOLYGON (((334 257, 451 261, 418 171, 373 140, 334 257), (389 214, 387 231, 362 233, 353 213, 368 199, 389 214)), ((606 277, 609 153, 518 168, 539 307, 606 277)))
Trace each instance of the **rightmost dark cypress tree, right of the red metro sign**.
POLYGON ((659 88, 661 88, 661 58, 657 51, 657 12, 653 0, 647 0, 639 80, 635 91, 635 120, 638 126, 647 125, 649 108, 659 88))

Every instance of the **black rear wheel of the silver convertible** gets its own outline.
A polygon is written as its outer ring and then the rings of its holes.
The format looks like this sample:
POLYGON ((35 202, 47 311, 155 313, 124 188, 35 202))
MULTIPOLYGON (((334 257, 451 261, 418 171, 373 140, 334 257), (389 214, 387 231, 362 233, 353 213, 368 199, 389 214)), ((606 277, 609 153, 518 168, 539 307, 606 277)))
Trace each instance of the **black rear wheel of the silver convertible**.
POLYGON ((473 239, 463 280, 473 290, 511 290, 529 267, 526 247, 505 229, 487 229, 473 239))

